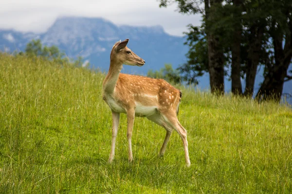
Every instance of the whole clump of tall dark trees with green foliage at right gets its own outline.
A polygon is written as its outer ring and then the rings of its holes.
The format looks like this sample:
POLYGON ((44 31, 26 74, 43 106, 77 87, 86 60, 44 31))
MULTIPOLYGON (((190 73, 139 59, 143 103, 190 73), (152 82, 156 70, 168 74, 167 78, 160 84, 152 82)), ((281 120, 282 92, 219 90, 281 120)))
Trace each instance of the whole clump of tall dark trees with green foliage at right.
POLYGON ((189 25, 186 44, 188 61, 179 69, 187 83, 210 74, 211 92, 222 92, 231 67, 233 94, 252 97, 256 74, 264 68, 257 97, 279 101, 292 58, 292 0, 161 0, 160 6, 177 2, 183 14, 202 14, 200 27, 189 25), (204 5, 200 7, 199 5, 204 5), (260 67, 263 66, 263 67, 260 67))

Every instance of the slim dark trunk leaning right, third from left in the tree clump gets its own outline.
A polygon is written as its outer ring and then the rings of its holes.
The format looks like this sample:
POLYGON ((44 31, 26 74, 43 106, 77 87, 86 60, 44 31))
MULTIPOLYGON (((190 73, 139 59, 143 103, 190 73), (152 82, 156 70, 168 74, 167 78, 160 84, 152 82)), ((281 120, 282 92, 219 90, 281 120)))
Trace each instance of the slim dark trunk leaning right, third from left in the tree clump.
MULTIPOLYGON (((259 24, 258 24, 259 25, 259 24)), ((248 61, 246 69, 246 85, 244 96, 253 97, 256 81, 256 69, 259 63, 259 54, 261 50, 261 40, 263 37, 263 28, 254 25, 251 28, 251 38, 249 40, 248 61)))

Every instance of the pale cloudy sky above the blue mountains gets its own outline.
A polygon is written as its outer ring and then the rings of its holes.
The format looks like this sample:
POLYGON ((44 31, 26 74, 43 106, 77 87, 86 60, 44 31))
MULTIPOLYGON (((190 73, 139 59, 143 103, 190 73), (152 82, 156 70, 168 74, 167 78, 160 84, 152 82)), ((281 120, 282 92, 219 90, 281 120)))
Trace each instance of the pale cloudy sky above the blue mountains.
POLYGON ((183 15, 177 4, 159 7, 159 0, 0 0, 0 29, 46 32, 57 17, 103 17, 116 25, 161 25, 182 36, 187 25, 200 25, 200 15, 183 15))

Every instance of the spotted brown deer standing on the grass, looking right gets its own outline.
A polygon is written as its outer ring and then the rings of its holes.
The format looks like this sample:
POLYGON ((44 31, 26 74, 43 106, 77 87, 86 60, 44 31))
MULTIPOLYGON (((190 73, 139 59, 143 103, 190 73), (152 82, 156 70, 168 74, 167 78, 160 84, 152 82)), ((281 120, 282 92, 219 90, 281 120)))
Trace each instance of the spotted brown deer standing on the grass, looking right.
POLYGON ((187 132, 177 114, 182 92, 163 79, 120 73, 124 65, 143 66, 145 61, 127 47, 129 39, 116 42, 110 52, 110 68, 103 81, 103 100, 112 114, 111 163, 114 159, 120 113, 127 114, 128 161, 133 161, 132 130, 135 117, 146 117, 166 130, 159 156, 164 156, 169 137, 176 130, 183 141, 186 166, 190 166, 187 132))

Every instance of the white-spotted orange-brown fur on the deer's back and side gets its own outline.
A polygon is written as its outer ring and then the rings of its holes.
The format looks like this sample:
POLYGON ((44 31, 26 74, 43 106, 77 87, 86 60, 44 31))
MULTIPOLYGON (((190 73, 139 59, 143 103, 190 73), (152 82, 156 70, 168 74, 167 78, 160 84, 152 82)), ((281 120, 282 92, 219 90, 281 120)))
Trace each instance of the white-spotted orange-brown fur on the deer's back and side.
POLYGON ((135 101, 144 106, 157 106, 158 111, 177 110, 181 99, 180 90, 162 79, 122 73, 119 75, 115 91, 118 103, 126 110, 134 106, 135 101), (145 91, 147 96, 153 97, 144 96, 145 91))

